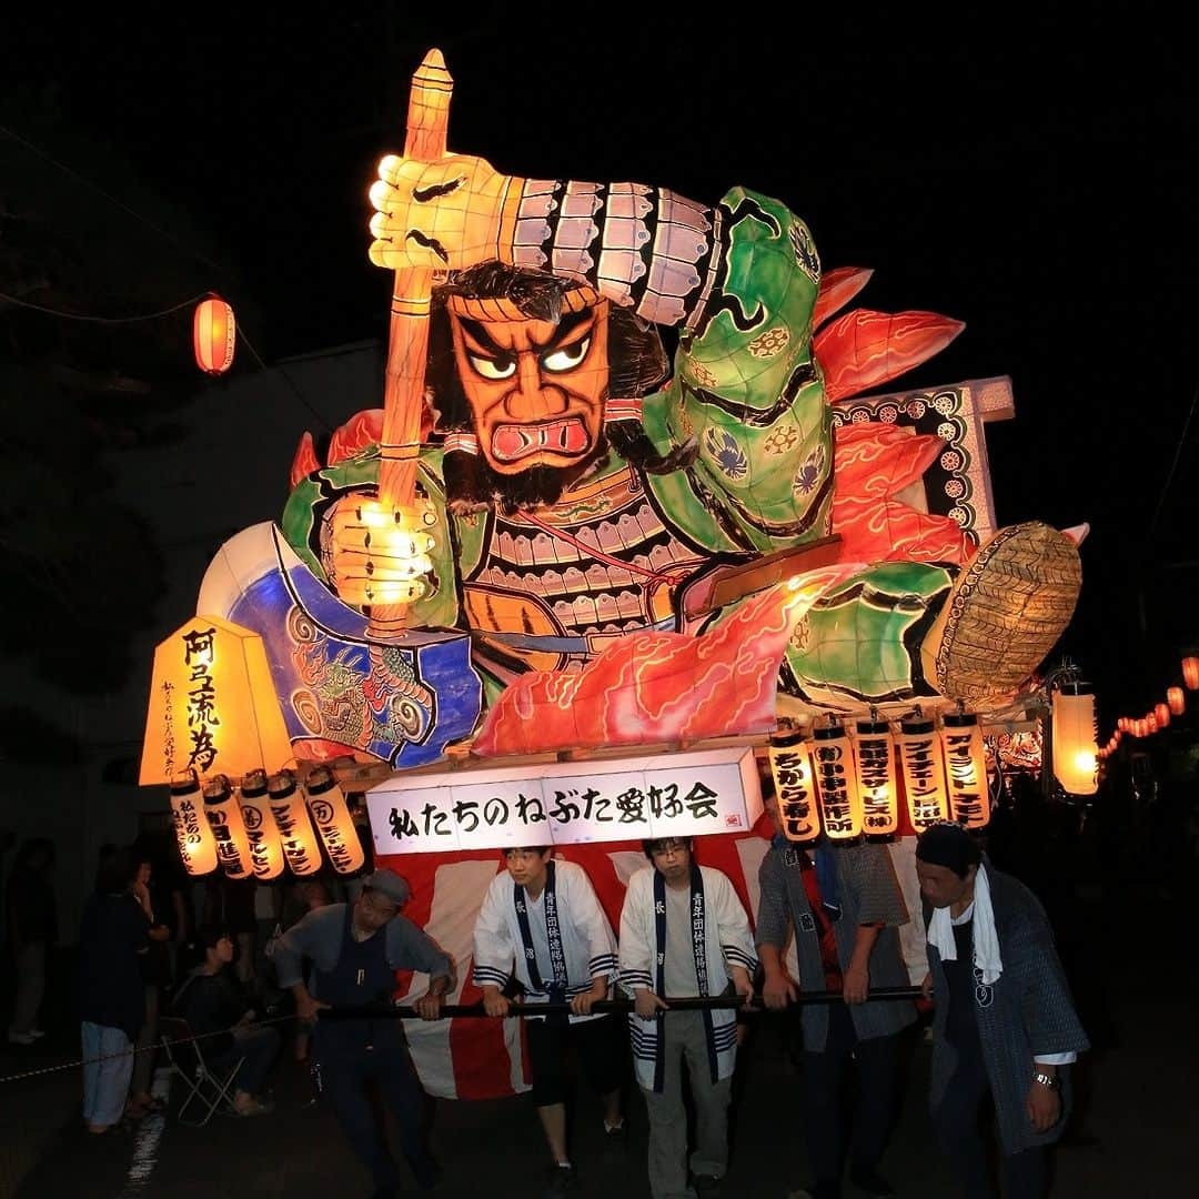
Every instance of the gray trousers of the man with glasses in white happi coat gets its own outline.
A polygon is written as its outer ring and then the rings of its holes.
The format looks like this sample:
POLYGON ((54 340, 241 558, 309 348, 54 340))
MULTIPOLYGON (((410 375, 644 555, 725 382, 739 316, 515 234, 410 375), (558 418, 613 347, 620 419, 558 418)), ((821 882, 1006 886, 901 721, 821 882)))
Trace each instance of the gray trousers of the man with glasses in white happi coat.
POLYGON ((695 1107, 695 1149, 691 1173, 723 1177, 729 1159, 729 1099, 733 1078, 713 1083, 707 1065, 703 1012, 667 1012, 662 1019, 665 1077, 662 1093, 644 1087, 650 1113, 650 1189, 653 1199, 694 1199, 687 1183, 687 1109, 682 1101, 682 1062, 687 1061, 695 1107))

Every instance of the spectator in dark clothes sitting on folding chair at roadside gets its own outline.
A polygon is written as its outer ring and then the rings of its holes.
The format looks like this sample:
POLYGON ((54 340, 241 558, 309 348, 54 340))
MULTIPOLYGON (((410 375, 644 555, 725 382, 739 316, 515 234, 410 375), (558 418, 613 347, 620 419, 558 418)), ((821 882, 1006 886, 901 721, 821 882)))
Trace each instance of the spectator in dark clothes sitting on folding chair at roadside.
POLYGON ((213 1070, 245 1060, 237 1071, 233 1105, 240 1116, 258 1116, 273 1104, 260 1095, 267 1072, 279 1052, 277 1029, 254 1023, 245 992, 233 971, 234 941, 219 924, 205 924, 197 932, 197 946, 204 951, 200 963, 180 987, 175 1008, 200 1041, 200 1053, 213 1070))

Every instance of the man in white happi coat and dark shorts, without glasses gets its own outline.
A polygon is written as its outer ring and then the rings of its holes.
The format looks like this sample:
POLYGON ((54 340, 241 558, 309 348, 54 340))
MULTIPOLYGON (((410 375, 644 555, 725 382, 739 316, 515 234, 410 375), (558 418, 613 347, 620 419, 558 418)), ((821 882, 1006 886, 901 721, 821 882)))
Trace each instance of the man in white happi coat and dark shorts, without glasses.
POLYGON ((475 982, 488 1016, 508 1014, 504 990, 513 975, 526 1002, 570 1005, 568 1014, 525 1020, 531 1097, 554 1158, 546 1193, 556 1195, 576 1182, 566 1145, 570 1050, 603 1096, 604 1137, 623 1141, 621 1025, 591 1011, 616 977, 616 939, 580 866, 554 861, 549 845, 506 849, 504 863, 507 869, 492 880, 475 923, 475 982))

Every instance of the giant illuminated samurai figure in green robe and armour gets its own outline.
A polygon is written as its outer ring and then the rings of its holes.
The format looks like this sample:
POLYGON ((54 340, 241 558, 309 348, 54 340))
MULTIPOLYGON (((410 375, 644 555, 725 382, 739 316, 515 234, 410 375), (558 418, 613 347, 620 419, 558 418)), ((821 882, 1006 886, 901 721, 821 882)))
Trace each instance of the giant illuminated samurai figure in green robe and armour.
MULTIPOLYGON (((688 619, 712 572, 779 552, 802 570, 805 547, 836 535, 820 263, 785 205, 522 179, 465 156, 385 159, 372 194, 372 259, 446 272, 418 450, 435 549, 409 620, 469 629, 489 699, 631 632, 699 632, 729 608, 688 619), (677 341, 669 376, 656 326, 677 341)), ((301 451, 283 529, 336 590, 379 447, 324 466, 311 440, 301 451)), ((1073 611, 1074 543, 1028 524, 981 549, 952 531, 940 544, 939 560, 893 547, 823 595, 781 692, 831 711, 1010 698, 1073 611)))

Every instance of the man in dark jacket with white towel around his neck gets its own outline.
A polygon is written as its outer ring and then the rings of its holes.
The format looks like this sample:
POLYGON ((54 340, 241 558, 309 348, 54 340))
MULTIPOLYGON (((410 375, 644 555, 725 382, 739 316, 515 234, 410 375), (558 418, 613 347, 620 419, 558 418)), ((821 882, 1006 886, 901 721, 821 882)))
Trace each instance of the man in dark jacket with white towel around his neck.
POLYGON ((1087 1049, 1053 930, 1023 882, 990 866, 960 825, 916 842, 935 1002, 933 1121, 970 1195, 998 1194, 980 1114, 989 1099, 1007 1199, 1048 1193, 1048 1146, 1070 1108, 1070 1062, 1087 1049))

